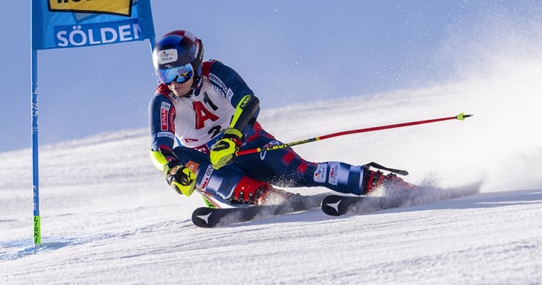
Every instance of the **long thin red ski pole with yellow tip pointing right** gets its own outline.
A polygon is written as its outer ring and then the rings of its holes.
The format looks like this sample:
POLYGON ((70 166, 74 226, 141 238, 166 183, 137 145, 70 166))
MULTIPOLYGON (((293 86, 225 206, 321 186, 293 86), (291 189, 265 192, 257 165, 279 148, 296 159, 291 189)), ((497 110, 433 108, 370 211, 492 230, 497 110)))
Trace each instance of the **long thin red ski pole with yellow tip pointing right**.
POLYGON ((265 151, 269 151, 269 150, 280 150, 280 149, 286 148, 286 147, 293 147, 294 145, 303 145, 305 143, 312 143, 312 142, 315 142, 317 140, 325 140, 327 138, 339 137, 341 135, 351 135, 353 133, 367 133, 367 132, 372 132, 372 131, 375 131, 375 130, 386 130, 388 128, 402 128, 402 127, 406 127, 408 125, 422 125, 424 123, 435 123, 435 122, 448 121, 448 120, 465 121, 465 118, 472 117, 472 116, 473 115, 465 115, 464 113, 460 113, 458 116, 447 117, 447 118, 435 118, 435 119, 431 119, 431 120, 415 121, 415 122, 409 122, 409 123, 397 123, 395 125, 382 125, 380 127, 361 128, 361 129, 357 129, 357 130, 345 130, 344 132, 331 133, 329 135, 321 135, 320 137, 307 138, 305 140, 298 140, 298 141, 292 142, 292 143, 283 143, 281 145, 271 145, 270 147, 258 147, 258 148, 252 148, 250 150, 239 150, 236 153, 236 155, 237 156, 239 156, 239 155, 249 155, 251 153, 265 152, 265 151))

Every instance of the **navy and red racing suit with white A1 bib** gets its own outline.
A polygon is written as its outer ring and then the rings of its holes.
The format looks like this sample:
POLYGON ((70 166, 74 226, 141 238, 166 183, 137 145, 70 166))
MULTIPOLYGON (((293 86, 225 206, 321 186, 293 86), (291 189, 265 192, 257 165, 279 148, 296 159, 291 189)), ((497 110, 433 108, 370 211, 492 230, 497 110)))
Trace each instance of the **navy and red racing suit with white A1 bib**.
MULTIPOLYGON (((234 69, 216 60, 203 62, 201 80, 187 97, 176 97, 160 84, 149 104, 149 125, 154 151, 172 150, 196 173, 196 187, 228 199, 247 179, 276 186, 323 186, 360 195, 363 167, 344 162, 307 162, 290 147, 241 155, 235 162, 213 169, 208 153, 230 123, 235 106, 254 92, 234 69), (179 146, 174 147, 177 142, 179 146), (250 178, 247 178, 250 177, 250 178)), ((240 150, 281 144, 256 121, 244 130, 240 150)))

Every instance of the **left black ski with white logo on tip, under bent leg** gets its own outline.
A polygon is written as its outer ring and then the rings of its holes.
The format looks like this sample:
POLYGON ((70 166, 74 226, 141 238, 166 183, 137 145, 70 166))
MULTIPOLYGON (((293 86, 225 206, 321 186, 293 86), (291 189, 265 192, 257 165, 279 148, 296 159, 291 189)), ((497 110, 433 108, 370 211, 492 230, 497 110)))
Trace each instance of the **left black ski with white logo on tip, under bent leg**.
POLYGON ((276 205, 243 206, 237 208, 197 208, 192 213, 192 223, 200 228, 216 228, 251 220, 261 220, 287 213, 307 211, 320 207, 325 194, 294 196, 276 205))

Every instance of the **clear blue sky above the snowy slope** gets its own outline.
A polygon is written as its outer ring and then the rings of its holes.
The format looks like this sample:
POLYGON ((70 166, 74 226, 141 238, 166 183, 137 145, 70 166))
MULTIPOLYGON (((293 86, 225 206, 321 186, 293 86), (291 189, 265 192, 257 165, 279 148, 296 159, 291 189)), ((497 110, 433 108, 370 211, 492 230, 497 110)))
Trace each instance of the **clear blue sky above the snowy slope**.
MULTIPOLYGON (((31 145, 30 1, 2 6, 5 152, 31 145)), ((195 33, 205 58, 237 69, 263 111, 453 80, 457 57, 488 23, 541 23, 541 6, 530 0, 152 1, 158 37, 177 29, 195 33)), ((38 52, 40 145, 145 128, 156 83, 148 41, 38 52)))

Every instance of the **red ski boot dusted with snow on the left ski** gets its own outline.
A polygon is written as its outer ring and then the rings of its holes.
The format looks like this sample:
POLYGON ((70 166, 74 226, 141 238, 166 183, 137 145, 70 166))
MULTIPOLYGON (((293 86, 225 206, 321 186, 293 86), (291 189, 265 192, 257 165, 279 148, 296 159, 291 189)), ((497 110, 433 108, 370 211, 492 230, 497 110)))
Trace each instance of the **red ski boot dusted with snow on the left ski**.
POLYGON ((235 186, 232 196, 228 200, 232 204, 264 205, 281 203, 295 196, 299 196, 299 194, 275 189, 267 182, 245 176, 235 186))

